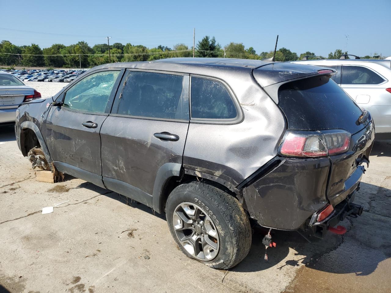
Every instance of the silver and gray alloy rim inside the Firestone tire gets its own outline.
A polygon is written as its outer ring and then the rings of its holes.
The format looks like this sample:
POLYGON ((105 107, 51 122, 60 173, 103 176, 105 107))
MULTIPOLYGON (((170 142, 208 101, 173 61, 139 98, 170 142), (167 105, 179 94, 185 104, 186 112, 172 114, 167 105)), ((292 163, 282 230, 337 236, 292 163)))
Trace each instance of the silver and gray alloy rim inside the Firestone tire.
POLYGON ((179 243, 189 254, 200 261, 211 261, 217 256, 219 234, 212 219, 199 205, 179 204, 172 222, 179 243))

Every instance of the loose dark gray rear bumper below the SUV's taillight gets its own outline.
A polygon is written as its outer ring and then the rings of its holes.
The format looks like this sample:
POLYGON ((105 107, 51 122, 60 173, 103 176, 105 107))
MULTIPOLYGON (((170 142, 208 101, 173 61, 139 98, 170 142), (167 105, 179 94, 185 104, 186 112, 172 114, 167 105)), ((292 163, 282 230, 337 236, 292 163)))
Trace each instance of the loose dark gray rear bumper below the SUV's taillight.
POLYGON ((340 204, 350 200, 359 189, 365 172, 363 166, 357 166, 344 181, 343 189, 328 200, 326 186, 330 166, 328 158, 281 158, 278 166, 274 166, 269 173, 243 189, 251 218, 267 228, 307 230, 313 226, 311 220, 315 215, 331 203, 334 213, 321 223, 330 225, 328 221, 331 221, 334 214, 338 216, 336 211, 342 209, 340 204))

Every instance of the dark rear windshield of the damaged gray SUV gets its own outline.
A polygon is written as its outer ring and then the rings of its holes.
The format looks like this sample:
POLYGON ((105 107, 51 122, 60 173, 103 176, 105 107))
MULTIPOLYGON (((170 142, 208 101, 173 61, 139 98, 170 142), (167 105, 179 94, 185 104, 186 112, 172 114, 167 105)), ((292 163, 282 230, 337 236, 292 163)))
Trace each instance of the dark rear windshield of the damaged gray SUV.
POLYGON ((283 84, 278 105, 288 121, 288 129, 344 129, 356 133, 361 109, 328 75, 283 84))

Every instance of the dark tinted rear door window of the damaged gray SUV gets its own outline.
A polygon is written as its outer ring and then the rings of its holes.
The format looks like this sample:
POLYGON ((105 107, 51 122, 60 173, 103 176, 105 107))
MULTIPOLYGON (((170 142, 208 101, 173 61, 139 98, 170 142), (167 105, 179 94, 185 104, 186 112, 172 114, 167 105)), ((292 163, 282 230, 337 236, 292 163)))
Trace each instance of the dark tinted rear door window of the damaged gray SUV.
POLYGON ((118 114, 181 119, 183 76, 131 71, 122 91, 118 114))

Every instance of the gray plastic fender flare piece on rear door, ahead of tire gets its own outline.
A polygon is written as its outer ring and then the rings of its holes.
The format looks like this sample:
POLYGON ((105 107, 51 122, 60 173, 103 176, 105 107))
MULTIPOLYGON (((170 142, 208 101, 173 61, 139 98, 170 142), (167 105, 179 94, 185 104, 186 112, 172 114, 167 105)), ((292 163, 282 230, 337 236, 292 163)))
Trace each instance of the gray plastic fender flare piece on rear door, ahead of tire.
POLYGON ((179 176, 181 173, 182 164, 165 163, 156 173, 156 179, 152 192, 152 207, 157 213, 163 212, 163 189, 167 181, 174 176, 179 176))

